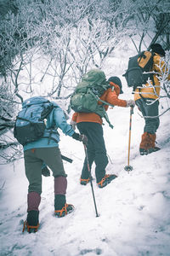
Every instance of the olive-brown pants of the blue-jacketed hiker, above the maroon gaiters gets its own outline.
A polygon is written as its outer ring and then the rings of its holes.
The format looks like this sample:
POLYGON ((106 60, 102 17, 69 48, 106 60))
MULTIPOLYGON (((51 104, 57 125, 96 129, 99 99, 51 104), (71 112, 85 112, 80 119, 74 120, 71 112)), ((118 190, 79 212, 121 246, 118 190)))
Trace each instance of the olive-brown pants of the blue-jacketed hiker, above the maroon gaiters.
POLYGON ((54 177, 66 177, 59 148, 33 148, 24 152, 28 192, 42 193, 42 164, 45 163, 54 177))

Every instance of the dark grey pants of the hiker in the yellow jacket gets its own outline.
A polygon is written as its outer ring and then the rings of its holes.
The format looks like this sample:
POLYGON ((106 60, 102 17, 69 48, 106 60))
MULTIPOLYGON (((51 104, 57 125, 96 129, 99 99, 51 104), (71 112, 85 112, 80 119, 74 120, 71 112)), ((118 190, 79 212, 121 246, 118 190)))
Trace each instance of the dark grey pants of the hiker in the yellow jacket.
POLYGON ((159 127, 159 102, 154 99, 141 98, 136 101, 136 105, 140 108, 144 116, 144 132, 149 132, 151 134, 156 133, 157 128, 159 127), (150 118, 147 118, 150 117, 150 118))

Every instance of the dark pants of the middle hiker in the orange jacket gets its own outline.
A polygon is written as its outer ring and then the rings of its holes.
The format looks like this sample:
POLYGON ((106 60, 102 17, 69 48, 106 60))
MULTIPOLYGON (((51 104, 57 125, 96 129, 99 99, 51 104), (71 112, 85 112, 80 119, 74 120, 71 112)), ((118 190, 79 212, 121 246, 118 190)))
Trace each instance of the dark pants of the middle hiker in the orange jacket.
MULTIPOLYGON (((102 125, 93 122, 82 122, 77 124, 77 128, 80 133, 88 137, 87 149, 89 166, 91 168, 93 162, 95 162, 96 182, 99 183, 100 180, 105 176, 105 167, 108 164, 102 125)), ((82 167, 81 177, 89 177, 86 158, 82 167)))

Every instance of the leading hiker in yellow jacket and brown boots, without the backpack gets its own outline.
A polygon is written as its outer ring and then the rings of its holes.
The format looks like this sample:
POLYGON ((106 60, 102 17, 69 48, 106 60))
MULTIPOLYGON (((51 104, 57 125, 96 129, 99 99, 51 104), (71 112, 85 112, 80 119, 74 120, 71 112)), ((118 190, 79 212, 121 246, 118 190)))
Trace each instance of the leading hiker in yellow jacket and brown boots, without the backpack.
POLYGON ((161 44, 151 44, 150 49, 151 53, 154 54, 153 65, 150 71, 155 72, 153 79, 150 80, 151 85, 146 82, 143 88, 137 88, 134 91, 134 101, 144 116, 145 122, 144 133, 139 145, 139 153, 141 155, 150 154, 160 149, 156 147, 156 131, 160 125, 158 107, 161 90, 158 74, 161 75, 160 61, 162 71, 165 70, 165 67, 163 67, 164 61, 161 60, 161 57, 165 56, 165 51, 162 49, 161 44))

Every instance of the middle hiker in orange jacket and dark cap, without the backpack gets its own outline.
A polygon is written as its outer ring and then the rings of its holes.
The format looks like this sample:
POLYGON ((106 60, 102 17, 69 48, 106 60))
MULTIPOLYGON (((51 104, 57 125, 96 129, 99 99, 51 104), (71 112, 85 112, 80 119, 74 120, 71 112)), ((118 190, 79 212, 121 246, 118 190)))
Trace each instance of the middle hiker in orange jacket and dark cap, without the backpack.
MULTIPOLYGON (((119 107, 130 107, 135 105, 133 100, 125 101, 118 98, 119 94, 123 93, 122 82, 118 77, 111 77, 108 81, 109 88, 105 90, 102 96, 100 96, 101 100, 119 107)), ((102 103, 98 102, 98 104, 102 103)), ((108 108, 108 105, 105 105, 105 110, 107 110, 108 108)), ((75 112, 73 113, 71 119, 71 125, 73 126, 73 128, 76 129, 77 125, 77 129, 80 131, 80 133, 88 137, 87 151, 89 166, 91 168, 93 162, 95 162, 95 177, 96 183, 98 184, 99 188, 104 188, 116 177, 116 175, 114 174, 105 173, 105 167, 108 164, 108 158, 103 137, 102 123, 102 118, 97 113, 75 112)), ((82 167, 80 183, 82 185, 86 185, 89 181, 90 177, 88 172, 87 160, 85 158, 82 167)))

